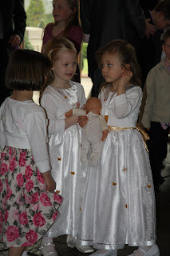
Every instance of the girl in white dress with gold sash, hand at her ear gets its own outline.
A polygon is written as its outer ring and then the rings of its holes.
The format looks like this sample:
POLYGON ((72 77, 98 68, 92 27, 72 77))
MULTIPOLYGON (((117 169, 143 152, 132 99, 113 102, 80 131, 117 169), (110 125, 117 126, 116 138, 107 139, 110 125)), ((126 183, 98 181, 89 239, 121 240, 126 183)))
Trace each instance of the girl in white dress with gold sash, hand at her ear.
POLYGON ((98 50, 97 59, 105 78, 99 98, 109 134, 97 168, 87 170, 77 243, 99 249, 95 256, 116 256, 125 244, 139 246, 133 256, 159 256, 152 173, 136 129, 142 90, 135 50, 115 40, 98 50))

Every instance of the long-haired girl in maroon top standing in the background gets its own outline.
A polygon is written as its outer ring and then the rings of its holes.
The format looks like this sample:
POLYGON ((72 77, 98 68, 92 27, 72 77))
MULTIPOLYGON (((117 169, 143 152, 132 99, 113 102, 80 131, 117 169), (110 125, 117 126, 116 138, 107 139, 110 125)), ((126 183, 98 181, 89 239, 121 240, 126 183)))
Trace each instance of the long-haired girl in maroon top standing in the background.
MULTIPOLYGON (((53 0, 53 23, 46 25, 43 35, 42 52, 45 44, 51 38, 68 38, 73 42, 77 55, 81 50, 83 32, 79 24, 77 0, 53 0)), ((80 70, 77 66, 77 74, 72 80, 81 82, 80 70)))

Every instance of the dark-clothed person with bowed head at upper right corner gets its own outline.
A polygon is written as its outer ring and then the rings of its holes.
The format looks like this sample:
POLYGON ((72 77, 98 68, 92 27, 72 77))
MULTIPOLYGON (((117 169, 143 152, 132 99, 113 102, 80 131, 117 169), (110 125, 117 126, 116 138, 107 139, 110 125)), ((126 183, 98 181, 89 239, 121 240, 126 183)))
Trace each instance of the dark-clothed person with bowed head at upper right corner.
POLYGON ((144 8, 144 16, 155 26, 156 32, 149 38, 144 36, 137 50, 143 86, 148 72, 160 62, 164 30, 170 26, 170 0, 159 1, 153 9, 144 8))

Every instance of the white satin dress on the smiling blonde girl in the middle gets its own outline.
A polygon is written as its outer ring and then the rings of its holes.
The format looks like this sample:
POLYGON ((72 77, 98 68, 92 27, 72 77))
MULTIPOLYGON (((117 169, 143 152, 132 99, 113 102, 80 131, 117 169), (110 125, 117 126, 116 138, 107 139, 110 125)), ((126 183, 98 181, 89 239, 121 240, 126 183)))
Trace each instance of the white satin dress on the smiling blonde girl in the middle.
POLYGON ((49 116, 49 156, 52 166, 52 175, 57 183, 57 193, 63 197, 59 216, 49 229, 47 234, 55 238, 62 234, 77 234, 78 220, 80 218, 81 191, 85 177, 81 170, 81 127, 77 124, 67 130, 54 134, 57 122, 64 121, 65 112, 77 106, 85 104, 85 93, 81 84, 70 82, 69 90, 47 87, 42 96, 42 106, 49 116), (56 120, 56 121, 55 121, 56 120), (56 125, 50 126, 50 122, 56 125), (53 132, 50 130, 53 130, 53 132))

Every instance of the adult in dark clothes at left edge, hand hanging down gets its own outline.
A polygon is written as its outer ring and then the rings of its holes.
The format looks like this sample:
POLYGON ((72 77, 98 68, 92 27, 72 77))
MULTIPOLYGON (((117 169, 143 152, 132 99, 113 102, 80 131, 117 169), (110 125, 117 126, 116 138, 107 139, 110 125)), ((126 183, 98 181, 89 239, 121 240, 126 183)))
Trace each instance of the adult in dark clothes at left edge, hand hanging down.
POLYGON ((0 1, 0 105, 10 95, 5 86, 9 56, 17 49, 26 29, 26 12, 22 0, 0 1))

